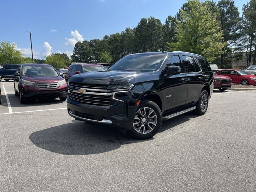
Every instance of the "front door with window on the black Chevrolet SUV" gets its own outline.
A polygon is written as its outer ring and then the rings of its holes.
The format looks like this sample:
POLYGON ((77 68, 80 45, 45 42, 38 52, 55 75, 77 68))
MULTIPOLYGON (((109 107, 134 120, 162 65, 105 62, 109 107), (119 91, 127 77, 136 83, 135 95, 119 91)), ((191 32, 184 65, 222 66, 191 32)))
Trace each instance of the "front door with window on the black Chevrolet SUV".
MULTIPOLYGON (((180 66, 182 64, 178 55, 172 55, 167 64, 168 66, 180 66)), ((166 69, 165 68, 165 69, 166 69)), ((175 74, 165 78, 165 109, 172 109, 187 102, 188 82, 186 74, 175 74)))

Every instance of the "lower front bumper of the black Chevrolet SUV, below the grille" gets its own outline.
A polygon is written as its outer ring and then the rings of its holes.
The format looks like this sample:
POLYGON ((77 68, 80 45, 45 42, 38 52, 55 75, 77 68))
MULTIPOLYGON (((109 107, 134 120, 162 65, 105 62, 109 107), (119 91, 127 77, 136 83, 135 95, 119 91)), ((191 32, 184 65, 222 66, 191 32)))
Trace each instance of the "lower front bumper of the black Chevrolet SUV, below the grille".
POLYGON ((133 113, 134 107, 128 107, 127 102, 114 101, 109 106, 97 106, 83 104, 67 98, 68 114, 80 121, 90 121, 100 124, 130 129, 133 118, 129 117, 133 113), (128 109, 130 108, 130 113, 128 109), (132 108, 132 109, 131 109, 132 108))

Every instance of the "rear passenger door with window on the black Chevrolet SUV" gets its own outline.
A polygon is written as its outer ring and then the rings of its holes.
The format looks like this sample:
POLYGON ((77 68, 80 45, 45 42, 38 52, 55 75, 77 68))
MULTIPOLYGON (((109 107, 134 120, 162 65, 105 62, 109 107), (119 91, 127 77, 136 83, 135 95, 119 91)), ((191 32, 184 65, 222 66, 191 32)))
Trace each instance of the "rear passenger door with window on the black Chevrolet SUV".
POLYGON ((187 102, 196 102, 199 99, 203 84, 202 69, 194 57, 189 55, 182 55, 182 66, 188 77, 187 102))

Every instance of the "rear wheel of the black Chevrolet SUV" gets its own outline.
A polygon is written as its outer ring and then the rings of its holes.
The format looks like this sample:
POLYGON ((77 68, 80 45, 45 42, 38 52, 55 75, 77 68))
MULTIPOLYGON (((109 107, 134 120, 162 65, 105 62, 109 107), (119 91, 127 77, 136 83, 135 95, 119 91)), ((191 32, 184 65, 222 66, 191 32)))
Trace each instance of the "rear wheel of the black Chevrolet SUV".
POLYGON ((196 109, 194 110, 197 115, 204 115, 209 103, 209 96, 206 90, 202 90, 198 102, 196 102, 196 109))

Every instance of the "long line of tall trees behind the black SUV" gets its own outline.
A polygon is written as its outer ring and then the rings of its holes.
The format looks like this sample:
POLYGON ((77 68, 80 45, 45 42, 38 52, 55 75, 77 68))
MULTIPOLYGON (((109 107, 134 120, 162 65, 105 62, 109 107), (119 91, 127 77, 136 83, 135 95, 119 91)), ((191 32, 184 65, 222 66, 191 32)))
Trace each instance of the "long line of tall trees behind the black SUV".
POLYGON ((233 0, 188 0, 164 24, 154 17, 142 18, 135 28, 77 42, 71 58, 114 63, 127 54, 165 50, 201 54, 220 68, 232 67, 232 61, 244 55, 247 66, 256 65, 256 0, 244 4, 242 16, 233 0))

